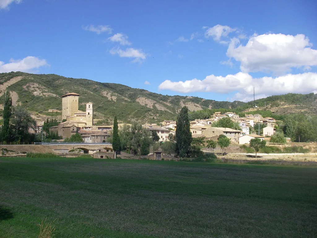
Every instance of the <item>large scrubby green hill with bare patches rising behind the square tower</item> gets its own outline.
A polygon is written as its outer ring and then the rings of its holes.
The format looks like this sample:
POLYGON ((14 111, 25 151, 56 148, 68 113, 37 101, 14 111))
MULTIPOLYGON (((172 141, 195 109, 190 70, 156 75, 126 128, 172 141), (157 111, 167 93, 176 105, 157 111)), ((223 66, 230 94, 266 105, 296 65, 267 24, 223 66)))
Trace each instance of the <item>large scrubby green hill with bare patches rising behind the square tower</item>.
POLYGON ((80 110, 85 103, 94 103, 96 119, 109 119, 117 115, 122 122, 161 122, 176 119, 184 105, 191 111, 230 108, 244 102, 218 102, 199 97, 165 96, 144 89, 134 89, 117 83, 99 83, 88 79, 74 79, 55 74, 29 74, 11 72, 0 74, 0 101, 8 85, 14 104, 21 104, 29 111, 56 116, 48 109, 61 110, 61 96, 69 92, 80 94, 80 110))

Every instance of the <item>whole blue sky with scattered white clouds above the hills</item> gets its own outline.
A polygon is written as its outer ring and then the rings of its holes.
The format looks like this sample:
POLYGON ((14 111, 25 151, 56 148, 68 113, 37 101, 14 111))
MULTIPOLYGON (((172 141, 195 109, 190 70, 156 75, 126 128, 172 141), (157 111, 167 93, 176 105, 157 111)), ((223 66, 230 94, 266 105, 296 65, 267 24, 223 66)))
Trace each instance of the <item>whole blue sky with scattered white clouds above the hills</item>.
POLYGON ((317 92, 316 1, 91 2, 0 0, 0 72, 214 100, 317 92))

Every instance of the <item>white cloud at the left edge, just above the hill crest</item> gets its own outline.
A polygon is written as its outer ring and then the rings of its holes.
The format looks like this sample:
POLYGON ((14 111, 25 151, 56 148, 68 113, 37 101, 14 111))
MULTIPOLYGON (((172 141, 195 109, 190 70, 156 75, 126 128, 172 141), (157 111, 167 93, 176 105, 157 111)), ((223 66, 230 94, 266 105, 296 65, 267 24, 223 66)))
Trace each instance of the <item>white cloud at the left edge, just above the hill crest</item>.
POLYGON ((7 73, 11 71, 29 72, 33 69, 38 69, 42 66, 48 66, 45 59, 39 59, 34 56, 27 56, 22 60, 10 59, 10 63, 0 61, 0 73, 7 73))

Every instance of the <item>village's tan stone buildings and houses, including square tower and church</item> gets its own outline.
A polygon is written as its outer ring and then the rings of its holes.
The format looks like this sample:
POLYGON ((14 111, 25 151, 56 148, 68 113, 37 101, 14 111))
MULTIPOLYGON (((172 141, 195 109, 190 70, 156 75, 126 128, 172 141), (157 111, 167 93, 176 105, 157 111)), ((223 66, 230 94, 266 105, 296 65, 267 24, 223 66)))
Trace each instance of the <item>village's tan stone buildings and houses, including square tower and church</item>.
MULTIPOLYGON (((78 110, 80 95, 77 93, 68 93, 62 97, 62 122, 56 126, 50 127, 50 133, 56 133, 62 139, 70 138, 75 133, 79 133, 85 143, 102 143, 107 142, 111 136, 113 125, 98 125, 94 124, 93 103, 86 103, 86 111, 78 110)), ((49 109, 56 111, 56 109, 49 109)), ((40 133, 44 122, 37 124, 34 133, 40 133)), ((119 129, 124 124, 119 124, 119 129)), ((159 136, 159 141, 164 142, 169 140, 169 136, 175 135, 177 130, 176 121, 164 120, 160 123, 144 124, 144 128, 150 131, 156 131, 159 136)), ((224 135, 230 139, 230 142, 236 144, 249 143, 252 138, 261 138, 271 136, 276 132, 277 123, 272 117, 262 117, 260 114, 246 114, 245 117, 239 117, 236 113, 226 112, 221 114, 215 112, 208 119, 194 120, 190 122, 190 131, 193 138, 203 137, 205 140, 217 141, 220 135, 224 135), (214 122, 222 118, 230 118, 234 123, 237 123, 241 130, 223 127, 214 127, 214 122), (255 123, 265 125, 263 134, 259 135, 257 128, 254 128, 255 123)))

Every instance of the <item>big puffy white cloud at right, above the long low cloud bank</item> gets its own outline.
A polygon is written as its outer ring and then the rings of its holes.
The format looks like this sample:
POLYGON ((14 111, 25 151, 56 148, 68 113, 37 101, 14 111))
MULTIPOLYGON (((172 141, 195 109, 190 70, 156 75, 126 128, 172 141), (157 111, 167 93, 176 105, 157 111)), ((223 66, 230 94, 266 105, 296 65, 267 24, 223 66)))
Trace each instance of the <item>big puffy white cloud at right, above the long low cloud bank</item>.
POLYGON ((281 75, 291 68, 317 65, 317 50, 304 35, 263 34, 251 36, 243 46, 233 38, 227 56, 241 63, 243 72, 274 72, 281 75))

